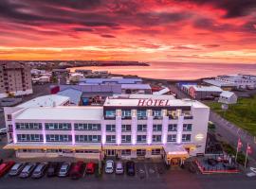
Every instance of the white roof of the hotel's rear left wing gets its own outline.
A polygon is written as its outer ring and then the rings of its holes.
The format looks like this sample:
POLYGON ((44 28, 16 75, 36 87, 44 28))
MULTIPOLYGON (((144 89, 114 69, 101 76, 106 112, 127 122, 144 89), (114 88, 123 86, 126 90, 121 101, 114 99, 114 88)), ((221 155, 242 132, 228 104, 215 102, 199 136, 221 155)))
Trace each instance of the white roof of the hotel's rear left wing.
POLYGON ((66 101, 69 100, 69 97, 57 94, 43 95, 36 98, 33 98, 23 104, 18 105, 19 108, 30 108, 30 107, 53 107, 61 106, 66 101))

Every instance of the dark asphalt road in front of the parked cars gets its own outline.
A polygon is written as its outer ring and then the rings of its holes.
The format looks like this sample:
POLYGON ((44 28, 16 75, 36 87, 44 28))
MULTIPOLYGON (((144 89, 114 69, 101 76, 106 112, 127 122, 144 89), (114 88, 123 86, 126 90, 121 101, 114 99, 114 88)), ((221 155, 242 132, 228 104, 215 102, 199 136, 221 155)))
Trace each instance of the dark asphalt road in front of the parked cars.
POLYGON ((170 170, 158 177, 139 179, 137 176, 103 175, 102 178, 85 176, 80 180, 69 178, 42 178, 40 180, 9 178, 0 179, 1 189, 255 189, 256 178, 235 175, 196 175, 186 170, 170 170))

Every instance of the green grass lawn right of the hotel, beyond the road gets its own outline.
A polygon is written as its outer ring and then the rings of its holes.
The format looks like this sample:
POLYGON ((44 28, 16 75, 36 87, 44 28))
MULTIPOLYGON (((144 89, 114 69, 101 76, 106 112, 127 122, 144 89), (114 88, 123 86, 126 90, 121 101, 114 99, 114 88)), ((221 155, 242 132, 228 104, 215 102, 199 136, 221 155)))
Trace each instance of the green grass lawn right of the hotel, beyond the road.
POLYGON ((229 105, 229 110, 226 112, 221 109, 221 104, 218 102, 206 102, 206 104, 229 122, 256 136, 256 95, 239 98, 237 104, 229 105))

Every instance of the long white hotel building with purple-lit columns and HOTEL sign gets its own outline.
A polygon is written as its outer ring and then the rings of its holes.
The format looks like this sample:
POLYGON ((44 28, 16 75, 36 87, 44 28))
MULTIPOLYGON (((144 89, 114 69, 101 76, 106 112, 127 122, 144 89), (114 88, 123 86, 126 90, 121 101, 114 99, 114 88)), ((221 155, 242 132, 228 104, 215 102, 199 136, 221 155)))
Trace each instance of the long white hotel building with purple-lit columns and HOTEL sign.
POLYGON ((108 97, 102 107, 66 106, 48 95, 5 108, 7 149, 20 158, 163 158, 205 153, 209 107, 190 99, 108 97))

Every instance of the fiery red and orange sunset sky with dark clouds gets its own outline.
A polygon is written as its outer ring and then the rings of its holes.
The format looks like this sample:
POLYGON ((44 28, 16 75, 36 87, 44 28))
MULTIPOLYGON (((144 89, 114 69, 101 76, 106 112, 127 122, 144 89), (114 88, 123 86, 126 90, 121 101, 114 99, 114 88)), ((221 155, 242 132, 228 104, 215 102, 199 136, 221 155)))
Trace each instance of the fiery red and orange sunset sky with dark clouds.
POLYGON ((256 62, 256 0, 0 0, 1 60, 256 62))

